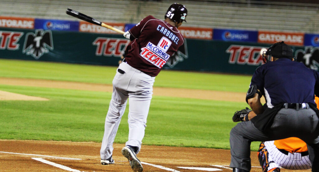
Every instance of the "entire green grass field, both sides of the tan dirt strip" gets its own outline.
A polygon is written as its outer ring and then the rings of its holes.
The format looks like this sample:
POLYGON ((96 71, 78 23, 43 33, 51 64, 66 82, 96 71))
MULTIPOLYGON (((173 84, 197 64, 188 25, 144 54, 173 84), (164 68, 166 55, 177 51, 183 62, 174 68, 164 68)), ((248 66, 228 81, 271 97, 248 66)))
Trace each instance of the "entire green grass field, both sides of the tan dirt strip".
MULTIPOLYGON (((116 67, 0 59, 0 77, 111 84, 116 67)), ((246 92, 251 76, 161 71, 154 86, 246 92)), ((0 139, 101 142, 111 93, 0 85, 50 101, 0 101, 0 139)), ((234 111, 246 102, 153 96, 145 145, 229 149, 234 111)), ((115 143, 128 138, 128 108, 115 143)), ((252 144, 256 150, 259 143, 252 144)))

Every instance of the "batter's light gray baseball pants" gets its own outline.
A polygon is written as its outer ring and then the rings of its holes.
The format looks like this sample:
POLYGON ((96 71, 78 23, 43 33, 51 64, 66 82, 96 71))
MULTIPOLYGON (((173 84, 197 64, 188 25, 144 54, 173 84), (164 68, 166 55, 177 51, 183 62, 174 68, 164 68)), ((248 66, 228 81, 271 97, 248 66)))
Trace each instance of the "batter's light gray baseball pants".
POLYGON ((151 77, 125 62, 122 62, 118 69, 125 73, 121 74, 116 71, 113 79, 112 99, 105 119, 105 131, 100 150, 101 159, 107 159, 112 155, 114 138, 128 98, 130 103, 129 140, 126 145, 138 146, 138 152, 140 151, 152 99, 155 77, 151 77))

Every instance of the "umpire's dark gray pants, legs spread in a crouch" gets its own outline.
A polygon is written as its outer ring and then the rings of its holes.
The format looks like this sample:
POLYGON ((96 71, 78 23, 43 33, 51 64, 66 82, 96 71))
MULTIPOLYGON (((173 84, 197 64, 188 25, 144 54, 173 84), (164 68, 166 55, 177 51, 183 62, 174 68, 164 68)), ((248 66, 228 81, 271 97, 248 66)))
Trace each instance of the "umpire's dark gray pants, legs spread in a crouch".
POLYGON ((318 117, 312 109, 279 110, 267 135, 259 131, 251 121, 238 123, 230 131, 230 167, 250 171, 250 143, 298 137, 308 146, 312 171, 319 171, 318 117))

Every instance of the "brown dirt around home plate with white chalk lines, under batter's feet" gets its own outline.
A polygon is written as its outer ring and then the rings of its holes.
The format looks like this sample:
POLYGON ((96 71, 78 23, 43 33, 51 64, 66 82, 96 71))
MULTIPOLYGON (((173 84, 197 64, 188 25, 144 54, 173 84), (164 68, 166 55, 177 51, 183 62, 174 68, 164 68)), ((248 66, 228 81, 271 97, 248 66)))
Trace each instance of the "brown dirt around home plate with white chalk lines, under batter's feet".
MULTIPOLYGON (((35 140, 0 140, 1 172, 132 172, 122 155, 123 144, 114 144, 115 164, 100 164, 100 143, 35 140)), ((251 152, 253 172, 261 172, 257 153, 251 152)), ((138 158, 145 172, 226 171, 230 151, 222 149, 142 145, 138 158)), ((284 171, 311 171, 286 170, 284 171)))

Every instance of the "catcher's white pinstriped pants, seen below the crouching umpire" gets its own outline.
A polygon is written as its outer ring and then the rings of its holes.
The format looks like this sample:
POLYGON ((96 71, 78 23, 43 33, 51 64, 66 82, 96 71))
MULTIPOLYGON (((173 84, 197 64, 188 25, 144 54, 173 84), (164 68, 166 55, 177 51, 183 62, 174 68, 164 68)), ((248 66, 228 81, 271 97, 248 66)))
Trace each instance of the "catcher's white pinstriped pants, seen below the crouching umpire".
POLYGON ((310 169, 311 163, 309 155, 301 156, 301 153, 288 153, 288 155, 280 152, 274 145, 274 141, 264 142, 266 149, 268 150, 268 162, 270 163, 268 169, 282 167, 290 170, 303 170, 310 169))

